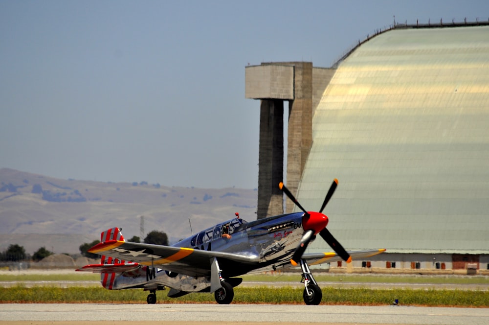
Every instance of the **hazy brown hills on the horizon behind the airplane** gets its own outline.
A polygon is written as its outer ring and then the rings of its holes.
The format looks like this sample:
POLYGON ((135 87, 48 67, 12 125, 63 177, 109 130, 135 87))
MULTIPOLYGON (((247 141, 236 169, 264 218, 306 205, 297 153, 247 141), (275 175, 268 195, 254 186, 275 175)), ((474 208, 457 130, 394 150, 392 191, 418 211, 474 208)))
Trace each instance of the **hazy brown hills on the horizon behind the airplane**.
POLYGON ((1 168, 0 251, 19 244, 29 254, 42 246, 79 253, 81 244, 112 227, 122 228, 126 238, 140 236, 141 215, 145 233, 166 232, 173 243, 191 234, 189 219, 194 233, 235 212, 256 220, 257 200, 256 189, 61 180, 1 168))

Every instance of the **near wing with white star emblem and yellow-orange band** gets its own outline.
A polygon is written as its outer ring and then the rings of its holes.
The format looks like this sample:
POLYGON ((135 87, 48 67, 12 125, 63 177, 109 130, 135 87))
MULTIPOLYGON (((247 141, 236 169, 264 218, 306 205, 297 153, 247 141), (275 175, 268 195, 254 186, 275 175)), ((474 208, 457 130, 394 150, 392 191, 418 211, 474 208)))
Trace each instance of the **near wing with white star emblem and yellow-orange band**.
POLYGON ((192 277, 210 276, 211 259, 214 257, 246 264, 253 264, 259 261, 259 256, 255 255, 202 251, 193 248, 140 244, 118 240, 99 243, 90 248, 89 252, 158 267, 166 271, 192 277))

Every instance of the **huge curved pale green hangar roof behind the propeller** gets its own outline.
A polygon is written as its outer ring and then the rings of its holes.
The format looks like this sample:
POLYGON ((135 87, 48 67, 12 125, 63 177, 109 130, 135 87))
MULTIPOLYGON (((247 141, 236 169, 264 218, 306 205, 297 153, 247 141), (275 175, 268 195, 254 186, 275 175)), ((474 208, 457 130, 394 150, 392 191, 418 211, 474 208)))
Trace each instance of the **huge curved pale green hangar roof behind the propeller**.
POLYGON ((359 46, 312 133, 297 198, 317 210, 338 178, 325 213, 345 248, 489 254, 489 26, 395 29, 359 46))

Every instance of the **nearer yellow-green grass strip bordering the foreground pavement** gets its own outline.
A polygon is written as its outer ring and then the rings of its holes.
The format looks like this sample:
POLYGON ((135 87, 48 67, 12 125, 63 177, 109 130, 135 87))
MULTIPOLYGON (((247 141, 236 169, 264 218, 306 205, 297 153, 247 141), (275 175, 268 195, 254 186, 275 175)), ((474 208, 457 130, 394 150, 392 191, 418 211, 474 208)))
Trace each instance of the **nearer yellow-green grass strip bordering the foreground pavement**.
MULTIPOLYGON (((236 287, 234 303, 303 304, 302 288, 236 287)), ((323 288, 322 304, 489 307, 489 292, 463 290, 374 290, 323 288)), ((148 292, 106 290, 100 287, 59 288, 13 286, 0 288, 0 303, 146 303, 148 292)), ((193 293, 177 299, 157 292, 158 303, 216 303, 214 295, 193 293)))

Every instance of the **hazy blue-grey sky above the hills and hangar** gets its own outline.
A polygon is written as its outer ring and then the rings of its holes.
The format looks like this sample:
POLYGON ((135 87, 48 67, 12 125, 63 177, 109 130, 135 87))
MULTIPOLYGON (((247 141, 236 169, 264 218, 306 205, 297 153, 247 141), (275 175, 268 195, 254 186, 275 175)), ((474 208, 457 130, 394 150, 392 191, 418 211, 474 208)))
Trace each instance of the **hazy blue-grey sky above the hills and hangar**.
POLYGON ((487 21, 489 1, 0 0, 0 168, 255 188, 244 67, 330 67, 394 16, 487 21))

